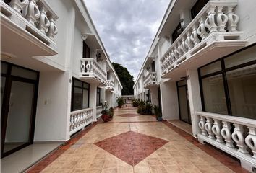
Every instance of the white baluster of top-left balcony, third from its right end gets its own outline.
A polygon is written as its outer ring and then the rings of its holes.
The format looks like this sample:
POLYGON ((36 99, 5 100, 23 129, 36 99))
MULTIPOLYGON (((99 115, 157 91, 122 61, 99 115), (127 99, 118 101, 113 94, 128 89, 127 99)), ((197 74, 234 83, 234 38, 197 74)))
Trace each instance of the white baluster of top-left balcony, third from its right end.
POLYGON ((35 22, 40 17, 40 11, 38 9, 38 5, 36 4, 38 0, 30 0, 27 6, 27 15, 26 19, 28 22, 35 26, 35 22))

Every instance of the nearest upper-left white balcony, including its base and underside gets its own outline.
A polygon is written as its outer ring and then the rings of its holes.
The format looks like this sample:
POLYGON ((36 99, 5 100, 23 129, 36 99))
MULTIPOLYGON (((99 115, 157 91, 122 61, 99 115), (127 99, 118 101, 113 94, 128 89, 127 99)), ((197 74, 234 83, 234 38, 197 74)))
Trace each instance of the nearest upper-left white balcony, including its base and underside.
POLYGON ((44 0, 1 1, 1 51, 14 56, 56 55, 56 19, 44 0))

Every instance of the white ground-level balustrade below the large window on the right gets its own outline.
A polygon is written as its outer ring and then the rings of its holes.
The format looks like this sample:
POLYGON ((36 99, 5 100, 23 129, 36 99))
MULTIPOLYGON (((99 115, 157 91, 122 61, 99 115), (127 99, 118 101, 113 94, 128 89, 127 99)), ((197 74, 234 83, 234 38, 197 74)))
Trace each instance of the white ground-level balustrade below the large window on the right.
POLYGON ((256 167, 256 120, 210 112, 196 113, 200 118, 199 141, 220 148, 250 168, 256 167))

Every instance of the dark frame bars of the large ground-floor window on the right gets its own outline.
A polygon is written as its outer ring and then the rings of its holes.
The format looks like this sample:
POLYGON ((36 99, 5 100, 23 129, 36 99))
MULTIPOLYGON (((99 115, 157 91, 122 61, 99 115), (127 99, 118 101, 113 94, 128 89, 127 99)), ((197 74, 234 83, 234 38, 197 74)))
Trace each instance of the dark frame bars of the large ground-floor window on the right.
POLYGON ((205 111, 205 97, 204 97, 204 94, 203 94, 203 88, 202 88, 202 79, 205 79, 205 78, 208 78, 210 76, 216 76, 218 74, 221 74, 222 78, 223 78, 223 88, 224 88, 224 92, 225 92, 225 97, 226 97, 226 108, 227 108, 227 112, 228 112, 228 115, 230 116, 233 116, 232 114, 232 107, 231 107, 231 99, 230 99, 230 95, 229 95, 229 84, 228 84, 228 80, 227 80, 227 77, 226 77, 226 73, 229 72, 229 71, 233 71, 233 70, 236 70, 236 69, 239 69, 239 68, 243 68, 243 67, 246 67, 246 66, 251 66, 251 65, 254 65, 256 64, 256 60, 254 61, 249 61, 247 63, 241 63, 239 65, 236 65, 236 66, 232 66, 232 67, 229 67, 229 68, 226 68, 225 67, 225 58, 228 58, 230 56, 233 56, 234 54, 236 53, 240 53, 242 52, 243 50, 247 50, 249 48, 252 48, 254 47, 256 48, 256 43, 252 44, 252 45, 249 45, 247 46, 246 48, 242 48, 240 50, 237 50, 235 51, 234 53, 231 53, 227 56, 223 56, 222 58, 218 58, 216 61, 212 61, 210 63, 207 63, 205 64, 204 66, 200 66, 200 68, 197 68, 197 72, 198 72, 198 79, 199 79, 199 85, 200 85, 200 95, 201 95, 201 104, 202 104, 202 111, 205 111), (221 70, 220 71, 216 71, 216 72, 213 72, 211 74, 205 74, 205 75, 202 75, 201 76, 201 72, 200 72, 200 69, 205 67, 205 66, 208 66, 212 63, 216 63, 217 61, 220 61, 221 62, 221 70))

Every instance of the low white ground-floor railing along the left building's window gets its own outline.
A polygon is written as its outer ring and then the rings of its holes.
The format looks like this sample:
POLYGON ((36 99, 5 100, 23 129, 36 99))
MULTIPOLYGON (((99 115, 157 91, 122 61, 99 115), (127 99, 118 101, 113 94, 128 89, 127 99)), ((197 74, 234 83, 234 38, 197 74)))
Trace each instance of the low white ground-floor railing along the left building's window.
POLYGON ((85 128, 86 125, 92 122, 93 108, 70 112, 69 135, 76 133, 78 130, 81 130, 82 128, 85 128))

